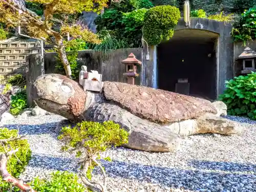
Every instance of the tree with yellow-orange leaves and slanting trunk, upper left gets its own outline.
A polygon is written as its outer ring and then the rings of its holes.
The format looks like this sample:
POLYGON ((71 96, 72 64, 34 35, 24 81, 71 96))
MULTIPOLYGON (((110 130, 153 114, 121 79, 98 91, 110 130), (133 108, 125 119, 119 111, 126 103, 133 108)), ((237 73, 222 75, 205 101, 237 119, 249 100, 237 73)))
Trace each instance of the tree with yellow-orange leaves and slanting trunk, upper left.
POLYGON ((108 1, 29 0, 28 2, 39 4, 43 8, 44 14, 38 16, 26 8, 20 9, 11 0, 0 0, 0 22, 12 28, 21 26, 27 34, 34 38, 54 42, 66 74, 68 77, 71 77, 63 40, 69 36, 73 38, 79 37, 94 44, 98 44, 100 40, 87 27, 77 23, 76 19, 69 19, 69 14, 74 15, 82 11, 100 13, 106 7, 108 1))

